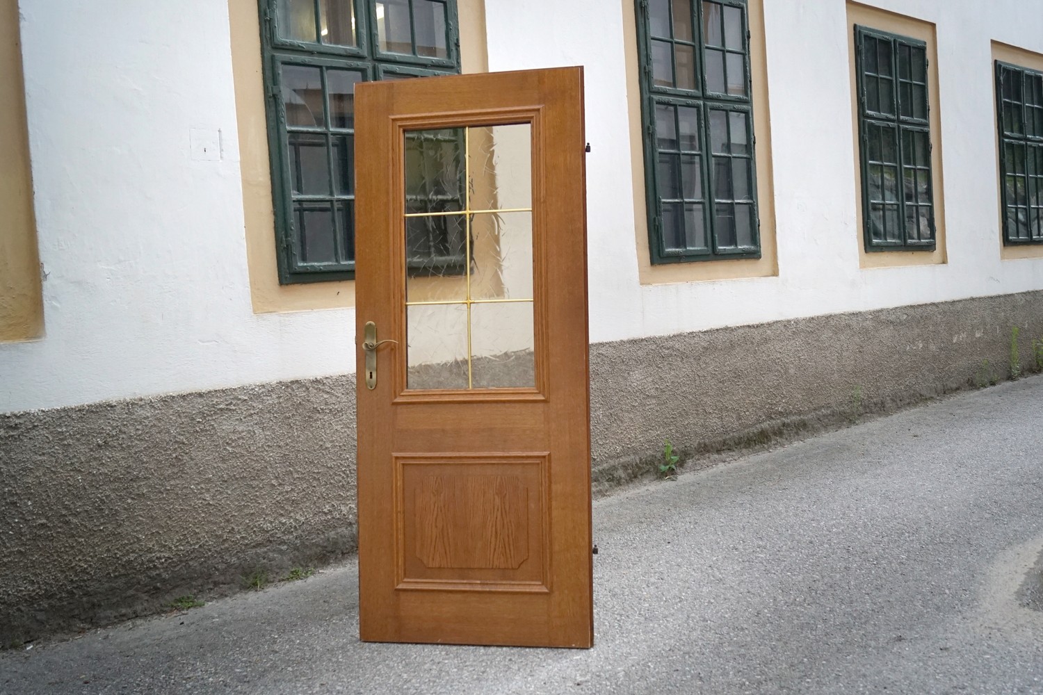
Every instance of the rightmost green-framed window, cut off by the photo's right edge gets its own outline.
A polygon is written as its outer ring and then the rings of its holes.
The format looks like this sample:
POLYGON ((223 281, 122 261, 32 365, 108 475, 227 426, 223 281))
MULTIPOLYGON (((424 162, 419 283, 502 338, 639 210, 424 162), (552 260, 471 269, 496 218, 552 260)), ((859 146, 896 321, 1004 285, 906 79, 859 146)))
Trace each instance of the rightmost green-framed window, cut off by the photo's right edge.
POLYGON ((1043 244, 1043 73, 996 61, 1003 243, 1043 244))

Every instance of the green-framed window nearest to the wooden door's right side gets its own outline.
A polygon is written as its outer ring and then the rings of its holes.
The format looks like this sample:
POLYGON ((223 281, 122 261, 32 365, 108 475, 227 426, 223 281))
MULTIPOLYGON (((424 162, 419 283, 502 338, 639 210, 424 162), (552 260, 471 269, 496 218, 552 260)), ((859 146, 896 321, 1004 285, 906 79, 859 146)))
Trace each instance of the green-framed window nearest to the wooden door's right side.
POLYGON ((638 0, 652 263, 760 256, 745 0, 638 0))

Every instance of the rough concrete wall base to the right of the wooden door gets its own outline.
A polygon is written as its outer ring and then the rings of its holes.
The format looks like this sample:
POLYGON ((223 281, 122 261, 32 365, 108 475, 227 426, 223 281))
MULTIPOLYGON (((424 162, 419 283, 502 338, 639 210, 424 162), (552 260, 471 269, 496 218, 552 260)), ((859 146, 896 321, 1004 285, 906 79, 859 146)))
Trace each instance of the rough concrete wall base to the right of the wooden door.
POLYGON ((1032 371, 1043 292, 593 345, 596 490, 653 471, 665 438, 744 448, 1009 378, 1014 326, 1032 371))

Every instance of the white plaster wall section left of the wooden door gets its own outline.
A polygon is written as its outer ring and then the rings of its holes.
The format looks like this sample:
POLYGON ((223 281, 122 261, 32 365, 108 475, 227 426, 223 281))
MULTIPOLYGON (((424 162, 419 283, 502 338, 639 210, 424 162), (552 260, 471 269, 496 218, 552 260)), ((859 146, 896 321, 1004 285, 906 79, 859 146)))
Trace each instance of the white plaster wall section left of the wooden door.
POLYGON ((251 309, 226 3, 20 9, 46 336, 0 412, 354 371, 354 312, 251 309))

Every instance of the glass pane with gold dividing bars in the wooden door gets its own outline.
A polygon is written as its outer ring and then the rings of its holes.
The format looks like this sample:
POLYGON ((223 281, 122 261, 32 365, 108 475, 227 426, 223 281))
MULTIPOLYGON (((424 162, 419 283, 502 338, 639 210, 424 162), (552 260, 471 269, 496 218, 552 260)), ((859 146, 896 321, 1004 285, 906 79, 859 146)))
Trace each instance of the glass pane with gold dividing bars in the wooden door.
POLYGON ((531 138, 406 132, 408 389, 535 386, 531 138))

